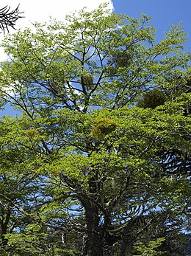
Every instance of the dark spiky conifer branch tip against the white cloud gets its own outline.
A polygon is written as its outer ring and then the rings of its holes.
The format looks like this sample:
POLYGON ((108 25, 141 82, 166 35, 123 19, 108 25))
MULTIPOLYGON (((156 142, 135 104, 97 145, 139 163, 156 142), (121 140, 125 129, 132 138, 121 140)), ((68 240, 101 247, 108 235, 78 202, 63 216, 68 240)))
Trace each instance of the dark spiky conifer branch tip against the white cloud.
MULTIPOLYGON (((18 5, 19 7, 19 5, 18 5)), ((15 28, 15 23, 18 18, 23 18, 20 12, 16 7, 14 10, 10 11, 10 7, 6 6, 0 9, 0 29, 5 33, 9 32, 9 27, 15 28)))

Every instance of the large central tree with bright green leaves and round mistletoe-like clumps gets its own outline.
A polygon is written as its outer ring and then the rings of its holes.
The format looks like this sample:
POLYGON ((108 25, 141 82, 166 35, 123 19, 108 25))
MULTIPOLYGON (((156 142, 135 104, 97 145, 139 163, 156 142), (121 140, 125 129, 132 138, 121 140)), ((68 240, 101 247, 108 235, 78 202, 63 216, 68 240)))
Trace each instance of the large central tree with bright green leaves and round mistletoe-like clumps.
POLYGON ((28 225, 6 235, 14 255, 132 255, 163 237, 152 227, 187 228, 190 174, 162 152, 190 153, 190 92, 174 90, 190 53, 180 24, 156 44, 149 20, 100 6, 4 39, 1 100, 21 111, 14 141, 37 174, 17 208, 28 225), (151 89, 172 97, 137 105, 151 89))

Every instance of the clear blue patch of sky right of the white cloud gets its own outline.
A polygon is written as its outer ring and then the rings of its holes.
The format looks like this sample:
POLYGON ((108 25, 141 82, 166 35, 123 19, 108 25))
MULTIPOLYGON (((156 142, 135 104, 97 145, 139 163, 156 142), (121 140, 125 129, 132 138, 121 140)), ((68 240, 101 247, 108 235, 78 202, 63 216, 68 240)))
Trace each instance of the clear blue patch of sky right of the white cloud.
POLYGON ((112 0, 115 13, 125 13, 139 18, 141 13, 153 17, 151 25, 156 28, 157 39, 164 37, 170 24, 182 21, 184 31, 189 33, 185 50, 191 51, 191 0, 112 0))

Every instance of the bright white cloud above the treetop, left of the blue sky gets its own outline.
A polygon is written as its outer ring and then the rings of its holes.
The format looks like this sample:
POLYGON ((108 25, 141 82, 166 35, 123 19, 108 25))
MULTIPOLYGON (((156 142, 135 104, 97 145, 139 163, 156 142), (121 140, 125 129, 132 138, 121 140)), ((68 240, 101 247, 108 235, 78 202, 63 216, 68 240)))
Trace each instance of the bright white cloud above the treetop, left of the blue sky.
MULTIPOLYGON (((66 14, 81 10, 83 7, 93 10, 106 1, 109 2, 109 8, 113 9, 112 0, 1 0, 0 9, 8 5, 10 10, 13 10, 20 4, 19 10, 24 11, 25 18, 20 18, 17 21, 15 28, 18 29, 31 27, 32 21, 48 21, 50 16, 63 21, 66 14)), ((13 30, 10 31, 13 32, 13 30)), ((1 33, 0 40, 3 37, 4 35, 1 33)), ((0 49, 0 60, 5 58, 3 49, 0 49)))

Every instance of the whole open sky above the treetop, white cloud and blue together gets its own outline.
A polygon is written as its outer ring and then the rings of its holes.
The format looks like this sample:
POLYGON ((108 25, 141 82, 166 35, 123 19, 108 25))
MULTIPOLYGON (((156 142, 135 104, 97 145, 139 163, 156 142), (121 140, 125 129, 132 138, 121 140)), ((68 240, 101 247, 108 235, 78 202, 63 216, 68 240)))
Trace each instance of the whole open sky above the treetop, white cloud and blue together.
MULTIPOLYGON (((26 18, 18 21, 18 28, 28 27, 30 24, 28 20, 40 22, 43 19, 48 20, 50 15, 62 20, 66 13, 80 10, 84 6, 87 6, 88 10, 93 10, 104 1, 108 0, 54 0, 54 4, 47 0, 1 0, 1 7, 8 4, 14 8, 20 3, 20 10, 24 10, 26 18)), ((164 32, 170 29, 170 24, 177 25, 179 21, 182 21, 184 31, 189 34, 184 50, 191 51, 191 0, 109 0, 109 2, 109 6, 112 7, 113 4, 115 13, 125 13, 134 18, 140 18, 141 13, 145 13, 153 17, 150 24, 156 28, 157 41, 165 36, 164 32)), ((2 37, 1 34, 0 39, 2 37)), ((2 49, 0 49, 0 59, 4 60, 2 49)), ((11 114, 10 109, 6 109, 7 114, 11 114)), ((5 114, 6 111, 3 111, 3 113, 5 114)))

